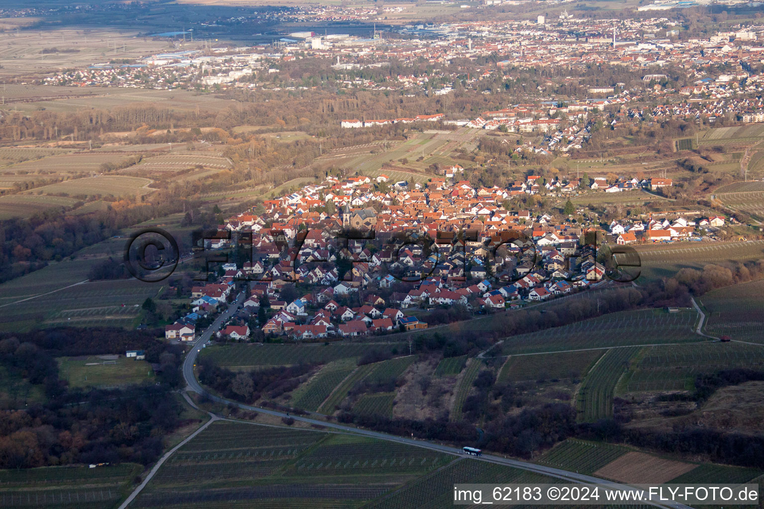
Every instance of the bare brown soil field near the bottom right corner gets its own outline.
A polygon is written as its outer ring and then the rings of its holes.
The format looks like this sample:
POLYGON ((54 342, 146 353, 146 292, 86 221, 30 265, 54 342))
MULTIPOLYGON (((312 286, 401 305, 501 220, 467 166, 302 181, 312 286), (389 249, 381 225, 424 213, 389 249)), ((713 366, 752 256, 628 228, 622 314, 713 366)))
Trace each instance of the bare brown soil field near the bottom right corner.
POLYGON ((613 481, 659 484, 689 472, 697 465, 662 459, 645 453, 626 453, 594 472, 613 481))

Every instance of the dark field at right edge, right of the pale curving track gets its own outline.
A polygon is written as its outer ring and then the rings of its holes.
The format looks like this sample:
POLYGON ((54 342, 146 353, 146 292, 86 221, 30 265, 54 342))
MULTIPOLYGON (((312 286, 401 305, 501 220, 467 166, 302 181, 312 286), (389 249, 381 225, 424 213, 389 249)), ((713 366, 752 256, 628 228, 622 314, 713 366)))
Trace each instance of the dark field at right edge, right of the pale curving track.
POLYGON ((764 343, 764 280, 727 286, 708 292, 700 299, 705 308, 705 331, 713 336, 764 343))

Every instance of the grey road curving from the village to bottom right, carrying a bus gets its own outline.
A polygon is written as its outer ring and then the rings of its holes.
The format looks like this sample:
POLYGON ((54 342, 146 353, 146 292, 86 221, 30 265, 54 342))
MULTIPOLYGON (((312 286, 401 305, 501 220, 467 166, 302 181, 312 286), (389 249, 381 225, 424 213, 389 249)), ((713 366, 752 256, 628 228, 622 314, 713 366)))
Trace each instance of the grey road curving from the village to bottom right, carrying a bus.
MULTIPOLYGON (((196 362, 196 356, 199 354, 199 351, 201 351, 202 345, 209 340, 213 332, 218 330, 218 327, 220 327, 220 324, 222 324, 222 321, 225 320, 226 317, 230 316, 230 314, 233 311, 235 311, 236 308, 238 308, 238 304, 241 301, 244 301, 243 292, 239 294, 236 300, 232 304, 228 305, 228 309, 224 313, 222 313, 221 316, 218 317, 218 319, 215 320, 215 322, 213 322, 212 325, 210 325, 210 327, 208 327, 207 330, 205 330, 204 333, 202 333, 202 335, 199 336, 198 339, 194 341, 191 350, 186 355, 186 359, 183 361, 183 378, 186 379, 186 383, 188 384, 188 388, 190 390, 200 395, 207 395, 207 397, 212 399, 212 401, 218 401, 219 403, 222 403, 222 404, 232 404, 243 410, 257 411, 262 414, 274 415, 276 417, 286 417, 287 414, 284 412, 270 410, 269 408, 253 407, 248 404, 241 404, 236 401, 227 400, 225 398, 219 398, 218 396, 209 394, 208 391, 202 388, 202 385, 199 385, 199 380, 196 379, 196 375, 194 375, 193 368, 196 362)), ((345 433, 359 434, 359 435, 363 435, 364 437, 372 437, 379 440, 387 440, 389 442, 405 443, 410 446, 422 447, 425 449, 432 449, 432 450, 439 451, 441 453, 448 453, 453 455, 462 454, 461 449, 458 449, 457 447, 452 447, 452 446, 445 446, 440 443, 428 442, 426 440, 416 440, 413 438, 406 438, 406 437, 397 437, 396 435, 390 435, 387 433, 380 433, 378 431, 354 428, 351 426, 345 426, 344 424, 328 422, 326 420, 312 419, 310 417, 302 417, 299 415, 292 415, 290 417, 292 417, 294 420, 299 420, 304 423, 318 424, 320 426, 328 427, 328 428, 331 428, 332 430, 338 430, 345 433)), ((549 466, 536 465, 536 463, 524 462, 524 461, 520 461, 519 459, 503 458, 501 456, 493 456, 490 454, 484 454, 483 456, 480 456, 480 457, 469 456, 469 459, 474 459, 476 461, 497 463, 498 465, 510 466, 516 469, 527 470, 529 472, 536 472, 539 474, 548 475, 549 477, 562 479, 567 482, 587 483, 592 485, 598 485, 603 488, 626 488, 626 485, 622 485, 617 482, 606 481, 601 478, 592 477, 591 475, 579 474, 578 472, 568 472, 567 470, 555 469, 549 466)), ((153 473, 154 471, 151 472, 151 474, 153 473)), ((151 477, 148 477, 145 480, 145 482, 148 482, 149 478, 151 477)), ((652 501, 648 503, 655 507, 664 507, 664 508, 670 507, 671 509, 691 509, 690 506, 685 504, 679 504, 678 502, 652 501)))

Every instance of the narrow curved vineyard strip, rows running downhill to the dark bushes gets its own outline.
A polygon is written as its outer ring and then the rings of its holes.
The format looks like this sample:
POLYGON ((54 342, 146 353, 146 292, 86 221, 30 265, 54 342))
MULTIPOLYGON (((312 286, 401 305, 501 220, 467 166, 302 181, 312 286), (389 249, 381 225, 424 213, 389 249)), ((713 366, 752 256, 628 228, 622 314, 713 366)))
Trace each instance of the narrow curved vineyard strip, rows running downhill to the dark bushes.
POLYGON ((611 348, 592 367, 578 391, 578 419, 594 422, 613 416, 613 392, 629 364, 629 359, 639 351, 639 346, 611 348))

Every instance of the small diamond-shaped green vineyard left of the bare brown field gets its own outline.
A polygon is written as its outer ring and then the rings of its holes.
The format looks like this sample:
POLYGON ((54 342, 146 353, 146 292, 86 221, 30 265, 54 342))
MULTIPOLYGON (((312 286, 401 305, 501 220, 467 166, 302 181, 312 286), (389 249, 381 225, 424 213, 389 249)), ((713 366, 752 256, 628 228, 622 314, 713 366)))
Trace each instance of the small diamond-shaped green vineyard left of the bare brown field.
POLYGON ((538 463, 555 469, 591 475, 630 450, 609 443, 568 439, 546 452, 538 463))

